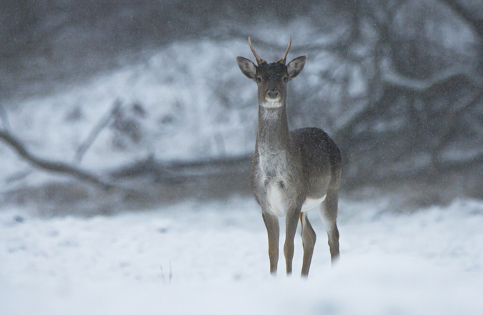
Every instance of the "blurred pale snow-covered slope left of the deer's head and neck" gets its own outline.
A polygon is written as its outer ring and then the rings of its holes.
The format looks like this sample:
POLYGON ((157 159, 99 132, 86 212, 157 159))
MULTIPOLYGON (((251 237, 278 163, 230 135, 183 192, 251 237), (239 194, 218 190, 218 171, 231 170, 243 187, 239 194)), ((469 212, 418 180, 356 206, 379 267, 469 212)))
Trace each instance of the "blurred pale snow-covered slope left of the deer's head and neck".
POLYGON ((131 130, 103 130, 83 166, 109 168, 150 154, 161 160, 246 154, 254 145, 257 107, 256 86, 241 80, 235 62, 237 52, 248 50, 244 46, 235 40, 175 42, 138 65, 12 104, 12 132, 43 157, 72 161, 89 131, 120 100, 119 123, 131 130), (235 80, 242 81, 243 92, 226 88, 235 80), (247 102, 251 110, 244 108, 247 102), (132 132, 138 138, 130 138, 132 132))

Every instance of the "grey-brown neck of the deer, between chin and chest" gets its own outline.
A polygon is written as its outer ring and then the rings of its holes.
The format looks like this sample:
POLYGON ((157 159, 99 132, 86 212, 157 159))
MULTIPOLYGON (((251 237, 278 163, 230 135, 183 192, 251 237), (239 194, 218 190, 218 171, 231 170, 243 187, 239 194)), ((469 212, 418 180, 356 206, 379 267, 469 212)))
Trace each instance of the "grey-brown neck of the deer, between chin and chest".
POLYGON ((258 105, 256 146, 261 154, 286 151, 292 142, 288 129, 285 104, 280 107, 258 105))

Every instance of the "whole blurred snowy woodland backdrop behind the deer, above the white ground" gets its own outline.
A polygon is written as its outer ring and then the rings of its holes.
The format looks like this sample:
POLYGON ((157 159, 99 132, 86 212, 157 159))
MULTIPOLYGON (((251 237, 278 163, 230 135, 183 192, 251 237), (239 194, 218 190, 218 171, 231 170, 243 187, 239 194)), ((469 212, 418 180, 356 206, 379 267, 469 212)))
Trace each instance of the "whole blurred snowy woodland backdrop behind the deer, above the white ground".
POLYGON ((110 214, 251 194, 256 84, 307 55, 291 129, 339 145, 342 197, 482 198, 481 0, 3 1, 0 206, 110 214), (106 184, 107 183, 107 184, 106 184))

